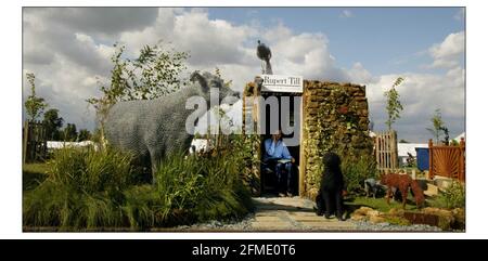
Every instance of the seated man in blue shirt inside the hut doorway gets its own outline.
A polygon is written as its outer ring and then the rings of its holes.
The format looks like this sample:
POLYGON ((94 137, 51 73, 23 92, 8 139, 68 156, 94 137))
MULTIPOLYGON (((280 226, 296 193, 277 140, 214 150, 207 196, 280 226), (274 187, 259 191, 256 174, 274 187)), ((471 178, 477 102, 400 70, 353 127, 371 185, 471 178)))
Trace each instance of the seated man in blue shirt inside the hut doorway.
POLYGON ((274 166, 274 174, 277 175, 277 191, 282 196, 286 193, 292 196, 291 179, 292 164, 295 159, 290 155, 286 145, 283 143, 281 130, 272 134, 271 139, 265 141, 265 164, 274 166))

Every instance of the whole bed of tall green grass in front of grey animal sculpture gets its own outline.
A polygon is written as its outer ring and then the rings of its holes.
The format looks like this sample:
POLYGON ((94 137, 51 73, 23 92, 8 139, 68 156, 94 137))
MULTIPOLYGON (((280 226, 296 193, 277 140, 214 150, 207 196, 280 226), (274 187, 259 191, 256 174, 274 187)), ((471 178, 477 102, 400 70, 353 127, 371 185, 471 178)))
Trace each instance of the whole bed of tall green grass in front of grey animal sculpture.
POLYGON ((252 209, 241 180, 242 161, 229 148, 219 157, 165 158, 155 183, 137 185, 131 155, 112 147, 63 148, 50 161, 48 178, 24 192, 23 223, 61 230, 189 224, 243 217, 252 209))

